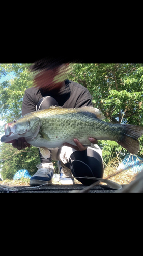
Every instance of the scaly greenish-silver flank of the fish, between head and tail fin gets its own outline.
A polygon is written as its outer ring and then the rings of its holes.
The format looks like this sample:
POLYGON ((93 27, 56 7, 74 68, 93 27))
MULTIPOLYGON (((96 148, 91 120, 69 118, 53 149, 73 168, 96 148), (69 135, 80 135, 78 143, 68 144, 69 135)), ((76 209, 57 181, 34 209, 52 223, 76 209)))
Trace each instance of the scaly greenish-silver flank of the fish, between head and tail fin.
POLYGON ((82 143, 89 144, 88 137, 100 139, 106 133, 106 136, 116 138, 118 129, 120 129, 120 125, 115 127, 95 118, 93 113, 81 112, 81 109, 59 108, 58 111, 56 110, 55 108, 51 109, 48 115, 45 110, 39 113, 34 112, 34 115, 40 118, 43 131, 48 134, 51 141, 58 139, 66 142, 69 138, 73 140, 76 137, 82 143))

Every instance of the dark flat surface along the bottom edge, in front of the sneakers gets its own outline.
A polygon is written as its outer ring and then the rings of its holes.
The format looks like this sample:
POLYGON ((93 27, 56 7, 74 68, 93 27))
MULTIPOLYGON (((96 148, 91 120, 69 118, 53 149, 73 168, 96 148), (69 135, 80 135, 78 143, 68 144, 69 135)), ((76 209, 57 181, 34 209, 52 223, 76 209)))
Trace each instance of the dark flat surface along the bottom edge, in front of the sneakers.
MULTIPOLYGON (((124 185, 122 185, 124 187, 124 185)), ((7 189, 18 189, 15 191, 9 191, 5 190, 0 185, 0 193, 69 193, 73 190, 81 191, 84 188, 87 188, 87 186, 83 186, 82 184, 75 184, 75 185, 48 185, 48 186, 40 186, 40 187, 31 187, 31 186, 14 186, 14 187, 6 187, 7 189)), ((106 185, 97 185, 89 191, 90 193, 114 193, 115 191, 109 186, 106 185)))

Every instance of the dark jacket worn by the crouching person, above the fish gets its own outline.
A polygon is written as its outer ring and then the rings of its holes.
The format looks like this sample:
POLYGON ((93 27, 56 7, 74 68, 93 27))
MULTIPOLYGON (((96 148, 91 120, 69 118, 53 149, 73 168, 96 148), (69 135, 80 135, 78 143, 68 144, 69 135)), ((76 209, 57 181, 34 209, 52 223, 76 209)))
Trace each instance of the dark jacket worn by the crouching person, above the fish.
POLYGON ((80 108, 81 106, 92 106, 91 94, 88 89, 79 83, 65 80, 65 93, 58 95, 52 92, 42 92, 42 89, 28 88, 25 90, 22 103, 22 116, 36 111, 36 105, 44 96, 52 96, 63 108, 80 108))

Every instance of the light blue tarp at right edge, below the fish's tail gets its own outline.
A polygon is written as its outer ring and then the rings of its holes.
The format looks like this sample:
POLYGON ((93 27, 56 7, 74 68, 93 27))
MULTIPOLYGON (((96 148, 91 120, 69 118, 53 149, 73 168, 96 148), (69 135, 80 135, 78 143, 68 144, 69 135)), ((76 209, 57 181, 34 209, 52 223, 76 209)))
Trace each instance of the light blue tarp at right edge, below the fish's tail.
POLYGON ((134 172, 134 173, 140 172, 143 169, 143 158, 128 153, 124 157, 124 159, 123 159, 121 165, 119 165, 118 169, 126 168, 126 167, 129 167, 132 170, 132 172, 134 172))

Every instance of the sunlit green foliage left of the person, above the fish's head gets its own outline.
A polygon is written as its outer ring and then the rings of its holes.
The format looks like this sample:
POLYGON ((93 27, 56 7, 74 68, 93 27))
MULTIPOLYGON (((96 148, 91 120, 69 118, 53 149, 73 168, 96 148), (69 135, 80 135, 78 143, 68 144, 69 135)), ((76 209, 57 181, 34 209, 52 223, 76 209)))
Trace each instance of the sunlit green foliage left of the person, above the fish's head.
POLYGON ((30 64, 1 64, 0 74, 14 72, 14 79, 0 84, 1 120, 11 122, 21 116, 24 91, 32 84, 30 64))

